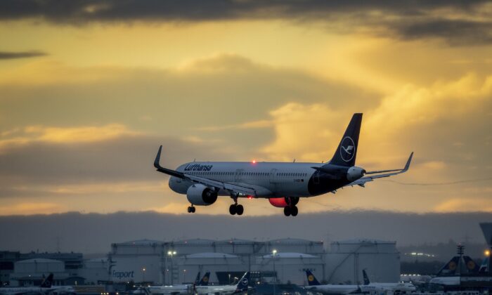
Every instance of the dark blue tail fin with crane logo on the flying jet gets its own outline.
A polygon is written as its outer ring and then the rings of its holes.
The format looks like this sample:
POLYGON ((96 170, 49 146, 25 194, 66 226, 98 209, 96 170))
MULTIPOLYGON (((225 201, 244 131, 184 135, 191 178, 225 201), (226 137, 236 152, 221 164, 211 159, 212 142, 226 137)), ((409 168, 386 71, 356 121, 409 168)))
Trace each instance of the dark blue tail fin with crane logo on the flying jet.
POLYGON ((362 114, 352 116, 347 130, 333 155, 330 164, 340 166, 354 166, 356 164, 358 134, 361 131, 362 114))

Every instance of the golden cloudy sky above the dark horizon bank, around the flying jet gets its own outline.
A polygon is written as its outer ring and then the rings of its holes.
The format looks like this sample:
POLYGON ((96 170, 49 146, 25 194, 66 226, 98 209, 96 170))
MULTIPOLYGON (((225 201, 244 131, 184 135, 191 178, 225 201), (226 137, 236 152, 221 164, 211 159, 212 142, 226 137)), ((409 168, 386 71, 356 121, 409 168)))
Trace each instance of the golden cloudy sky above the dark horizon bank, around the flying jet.
POLYGON ((354 112, 356 164, 410 171, 299 214, 492 212, 490 1, 6 0, 0 35, 0 215, 186 214, 159 145, 325 162, 354 112))

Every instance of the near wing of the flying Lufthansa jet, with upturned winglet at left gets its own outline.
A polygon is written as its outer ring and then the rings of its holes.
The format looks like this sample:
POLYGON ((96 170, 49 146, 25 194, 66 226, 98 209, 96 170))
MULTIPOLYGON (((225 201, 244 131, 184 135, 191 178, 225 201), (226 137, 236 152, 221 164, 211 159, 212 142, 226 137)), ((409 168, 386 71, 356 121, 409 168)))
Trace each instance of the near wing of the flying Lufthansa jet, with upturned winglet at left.
POLYGON ((238 185, 235 183, 226 183, 221 181, 214 181, 213 179, 190 175, 188 173, 179 172, 176 170, 171 170, 160 166, 160 153, 162 151, 162 145, 159 147, 159 151, 157 152, 157 156, 155 157, 154 167, 157 171, 168 174, 170 176, 174 176, 177 178, 184 179, 186 181, 192 181, 194 183, 201 183, 202 185, 207 185, 209 187, 216 188, 217 190, 228 190, 230 192, 239 193, 242 195, 251 195, 253 197, 257 196, 256 188, 246 186, 246 185, 238 185))

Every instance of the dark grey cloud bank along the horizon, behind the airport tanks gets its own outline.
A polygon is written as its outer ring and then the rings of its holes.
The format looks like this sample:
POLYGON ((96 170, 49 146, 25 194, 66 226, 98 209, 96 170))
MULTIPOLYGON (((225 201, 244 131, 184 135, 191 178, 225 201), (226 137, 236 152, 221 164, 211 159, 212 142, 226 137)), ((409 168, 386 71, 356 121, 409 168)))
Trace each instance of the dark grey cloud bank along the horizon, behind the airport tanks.
MULTIPOLYGON (((112 242, 190 238, 268 240, 298 237, 346 240, 358 237, 393 240, 400 247, 469 240, 485 244, 479 222, 488 213, 403 214, 382 211, 332 211, 285 216, 171 215, 155 212, 1 216, 0 249, 106 253, 112 242)), ((485 246, 484 246, 485 247, 485 246)), ((484 248, 483 248, 484 249, 484 248)))

